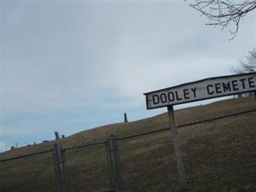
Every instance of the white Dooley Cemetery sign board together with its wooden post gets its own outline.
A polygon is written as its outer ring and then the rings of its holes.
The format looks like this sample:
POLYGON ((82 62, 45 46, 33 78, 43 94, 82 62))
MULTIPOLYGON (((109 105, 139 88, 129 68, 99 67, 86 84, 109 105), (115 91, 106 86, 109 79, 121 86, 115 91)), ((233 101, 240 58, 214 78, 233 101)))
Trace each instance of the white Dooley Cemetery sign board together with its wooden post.
POLYGON ((186 188, 187 182, 173 105, 248 92, 256 93, 256 72, 237 74, 234 76, 211 77, 144 93, 146 96, 147 109, 168 108, 175 158, 177 161, 180 184, 183 188, 186 188))

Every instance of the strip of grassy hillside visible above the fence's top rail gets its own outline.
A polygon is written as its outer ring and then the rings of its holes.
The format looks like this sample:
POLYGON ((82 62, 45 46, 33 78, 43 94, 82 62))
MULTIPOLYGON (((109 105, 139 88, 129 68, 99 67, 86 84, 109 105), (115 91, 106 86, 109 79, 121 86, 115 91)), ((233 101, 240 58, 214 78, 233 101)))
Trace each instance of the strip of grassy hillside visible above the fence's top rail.
MULTIPOLYGON (((189 108, 177 109, 175 110, 175 115, 177 119, 177 124, 186 124, 193 121, 204 120, 205 118, 211 118, 212 116, 227 115, 230 113, 236 113, 238 111, 244 111, 247 109, 256 109, 256 101, 254 97, 242 97, 242 98, 232 98, 219 100, 211 102, 205 105, 193 106, 189 108), (211 109, 209 111, 209 109, 211 109), (202 113, 204 111, 204 113, 202 113), (185 116, 185 117, 184 117, 185 116)), ((0 159, 3 159, 3 155, 17 156, 28 154, 31 149, 31 153, 38 152, 40 150, 48 150, 52 148, 53 143, 60 143, 63 147, 72 147, 77 145, 83 145, 84 143, 93 143, 95 141, 106 140, 110 134, 117 134, 117 136, 127 136, 127 134, 136 134, 145 131, 152 131, 154 129, 161 129, 168 127, 168 115, 166 113, 161 113, 159 115, 150 116, 148 118, 143 118, 140 120, 135 120, 132 122, 119 122, 108 125, 102 125, 98 127, 93 127, 91 129, 86 129, 84 131, 76 132, 64 139, 55 141, 49 141, 47 143, 38 143, 36 145, 31 145, 29 147, 20 147, 15 150, 8 150, 0 154, 0 159), (145 130, 138 130, 135 127, 146 127, 145 130), (157 125, 150 125, 157 124, 157 125), (129 127, 129 128, 128 128, 129 127), (129 129, 129 131, 127 131, 129 129), (2 156, 2 157, 1 157, 2 156)))

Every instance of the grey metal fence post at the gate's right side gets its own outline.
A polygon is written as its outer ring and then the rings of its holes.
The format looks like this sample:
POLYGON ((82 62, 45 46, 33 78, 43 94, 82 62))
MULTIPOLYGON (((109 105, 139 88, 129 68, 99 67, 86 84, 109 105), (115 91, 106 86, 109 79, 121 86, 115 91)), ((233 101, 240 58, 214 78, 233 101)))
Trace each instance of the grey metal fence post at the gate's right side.
POLYGON ((124 191, 124 188, 123 188, 123 180, 122 180, 122 173, 121 173, 120 156, 118 153, 118 144, 113 134, 111 134, 110 140, 112 143, 113 160, 114 160, 114 166, 115 166, 115 190, 117 192, 122 192, 124 191))

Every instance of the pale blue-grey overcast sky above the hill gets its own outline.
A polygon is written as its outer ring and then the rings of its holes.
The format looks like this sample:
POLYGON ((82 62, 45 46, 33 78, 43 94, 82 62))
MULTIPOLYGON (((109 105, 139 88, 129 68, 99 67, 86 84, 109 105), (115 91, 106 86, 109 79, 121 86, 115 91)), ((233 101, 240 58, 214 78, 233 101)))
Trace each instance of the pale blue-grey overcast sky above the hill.
POLYGON ((230 74, 255 11, 231 41, 205 22, 181 0, 1 1, 0 151, 163 113, 143 93, 230 74))

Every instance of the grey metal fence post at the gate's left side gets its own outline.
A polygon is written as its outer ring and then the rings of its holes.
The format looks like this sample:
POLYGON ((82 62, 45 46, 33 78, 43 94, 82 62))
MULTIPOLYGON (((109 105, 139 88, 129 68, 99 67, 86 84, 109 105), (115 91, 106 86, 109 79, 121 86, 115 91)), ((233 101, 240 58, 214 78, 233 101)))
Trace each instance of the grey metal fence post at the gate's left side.
POLYGON ((59 189, 59 192, 63 192, 63 188, 61 184, 61 169, 60 169, 61 162, 60 162, 59 147, 57 143, 54 143, 53 156, 54 156, 54 170, 57 177, 58 189, 59 189))

